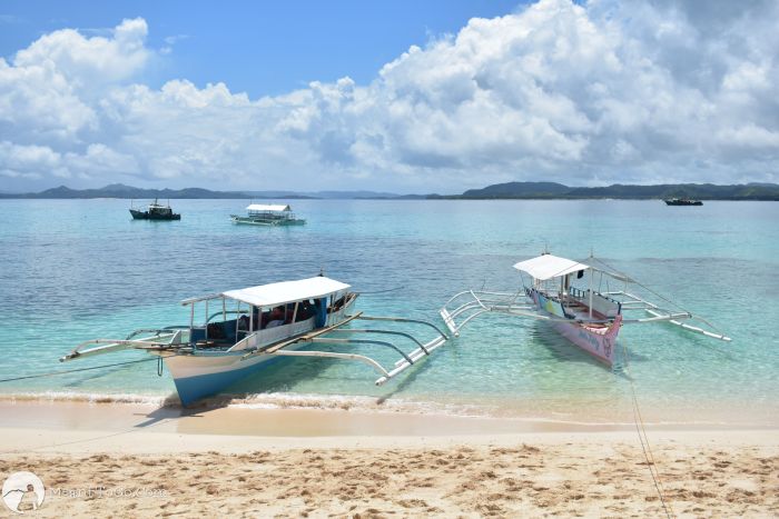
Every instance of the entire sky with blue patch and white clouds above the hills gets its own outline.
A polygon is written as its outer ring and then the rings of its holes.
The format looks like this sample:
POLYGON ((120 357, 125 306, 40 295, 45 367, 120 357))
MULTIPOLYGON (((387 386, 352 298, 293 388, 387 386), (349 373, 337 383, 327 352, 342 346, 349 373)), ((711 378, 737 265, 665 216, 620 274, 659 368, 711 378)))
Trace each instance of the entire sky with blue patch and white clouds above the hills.
POLYGON ((779 2, 0 0, 0 191, 779 182, 779 2))

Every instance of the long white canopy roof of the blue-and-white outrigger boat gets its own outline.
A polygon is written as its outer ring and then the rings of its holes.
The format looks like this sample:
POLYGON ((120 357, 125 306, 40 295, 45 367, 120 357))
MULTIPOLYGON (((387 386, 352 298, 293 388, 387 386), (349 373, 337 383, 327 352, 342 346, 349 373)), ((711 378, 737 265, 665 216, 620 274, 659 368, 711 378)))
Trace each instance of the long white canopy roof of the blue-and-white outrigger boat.
POLYGON ((300 279, 298 281, 283 281, 280 283, 228 290, 219 296, 247 302, 255 307, 275 307, 303 299, 322 298, 348 288, 348 285, 335 279, 317 276, 316 278, 300 279))

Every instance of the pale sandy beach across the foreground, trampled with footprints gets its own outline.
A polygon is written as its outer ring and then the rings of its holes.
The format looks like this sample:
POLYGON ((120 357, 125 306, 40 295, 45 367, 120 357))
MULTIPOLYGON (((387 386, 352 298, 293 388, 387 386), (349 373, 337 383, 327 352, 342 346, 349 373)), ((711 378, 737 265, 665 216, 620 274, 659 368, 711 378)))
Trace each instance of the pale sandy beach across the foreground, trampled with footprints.
MULTIPOLYGON (((377 436, 344 429, 365 419, 348 411, 47 409, 0 405, 0 477, 29 470, 48 488, 34 517, 665 515, 630 429, 502 421, 496 433, 489 420, 384 417, 396 429, 377 436), (229 420, 274 421, 275 432, 218 432, 229 420), (295 436, 296 423, 325 433, 295 436)), ((648 433, 676 516, 779 516, 776 430, 648 433)))

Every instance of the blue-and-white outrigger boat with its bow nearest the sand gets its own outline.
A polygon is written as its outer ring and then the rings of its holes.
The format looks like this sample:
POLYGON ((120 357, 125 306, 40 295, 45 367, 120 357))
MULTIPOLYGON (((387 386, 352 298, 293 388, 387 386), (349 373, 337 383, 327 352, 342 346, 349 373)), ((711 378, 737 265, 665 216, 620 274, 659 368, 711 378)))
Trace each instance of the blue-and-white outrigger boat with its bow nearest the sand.
POLYGON ((176 383, 184 406, 213 396, 252 375, 279 357, 319 357, 364 362, 374 368, 382 385, 406 370, 442 346, 447 337, 436 326, 397 317, 371 317, 347 313, 357 299, 349 286, 318 276, 298 281, 249 287, 239 290, 186 299, 190 307, 189 326, 141 329, 126 339, 93 339, 78 345, 60 361, 138 349, 159 356, 176 383), (228 301, 234 309, 227 308, 228 301), (214 305, 216 303, 216 305, 214 305), (195 322, 197 305, 205 309, 201 323, 195 322), (214 308, 216 307, 216 311, 214 308), (209 308, 213 313, 209 313, 209 308), (351 329, 357 320, 395 321, 426 326, 435 330, 427 342, 411 333, 379 329, 351 329), (347 335, 354 335, 348 338, 347 335), (363 336, 363 338, 359 337, 363 336), (386 340, 364 338, 368 335, 408 339, 415 348, 406 352, 386 340), (391 348, 400 355, 394 366, 385 368, 377 360, 357 353, 298 350, 307 345, 371 345, 391 348))

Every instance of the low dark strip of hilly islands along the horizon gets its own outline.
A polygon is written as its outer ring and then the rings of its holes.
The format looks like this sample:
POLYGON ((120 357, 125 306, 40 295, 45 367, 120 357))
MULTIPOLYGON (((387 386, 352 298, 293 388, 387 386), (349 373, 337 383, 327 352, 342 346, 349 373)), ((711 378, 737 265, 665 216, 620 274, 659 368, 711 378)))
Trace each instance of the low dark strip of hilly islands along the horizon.
POLYGON ((506 182, 482 189, 469 189, 462 194, 395 194, 376 191, 211 191, 201 188, 142 189, 112 183, 99 189, 70 189, 65 186, 38 193, 0 193, 0 198, 30 199, 352 199, 352 200, 553 200, 553 199, 624 199, 649 200, 693 198, 699 200, 779 200, 779 184, 746 183, 717 186, 713 183, 661 183, 631 186, 615 183, 600 188, 569 187, 556 182, 506 182))

